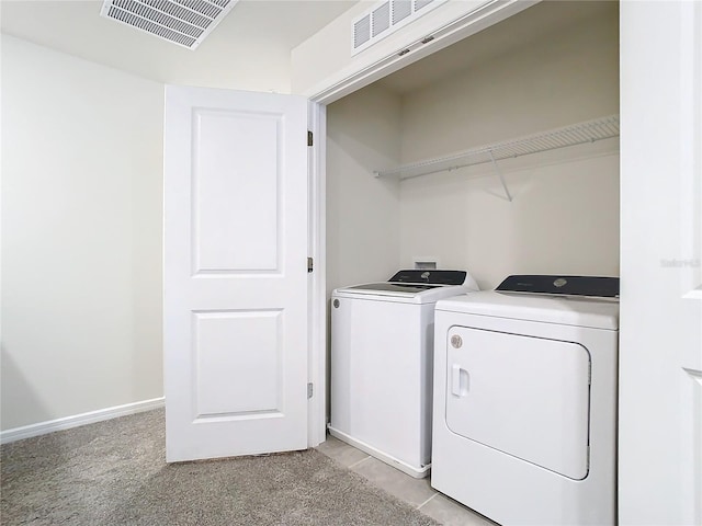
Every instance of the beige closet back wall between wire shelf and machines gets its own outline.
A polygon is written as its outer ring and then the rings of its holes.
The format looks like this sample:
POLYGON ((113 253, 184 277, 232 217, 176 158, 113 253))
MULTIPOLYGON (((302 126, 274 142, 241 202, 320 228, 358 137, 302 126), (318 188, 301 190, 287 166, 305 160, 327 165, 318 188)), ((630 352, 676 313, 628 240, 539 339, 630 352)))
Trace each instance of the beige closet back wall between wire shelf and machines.
POLYGON ((480 288, 510 274, 618 276, 619 156, 533 161, 505 170, 512 203, 489 167, 404 182, 400 266, 433 255, 480 288))

